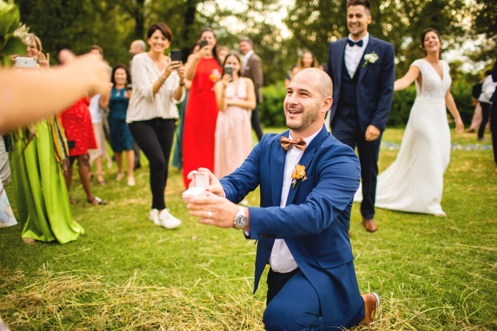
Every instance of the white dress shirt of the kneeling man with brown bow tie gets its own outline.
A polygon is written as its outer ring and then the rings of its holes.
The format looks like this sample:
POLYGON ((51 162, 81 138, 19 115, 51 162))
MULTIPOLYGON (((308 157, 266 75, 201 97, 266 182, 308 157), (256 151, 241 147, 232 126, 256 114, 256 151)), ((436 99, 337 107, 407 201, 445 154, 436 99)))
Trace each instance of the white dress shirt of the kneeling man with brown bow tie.
MULTIPOLYGON (((307 138, 304 138, 304 141, 307 143, 308 146, 311 143, 312 139, 314 139, 314 137, 318 135, 320 131, 321 128, 307 138)), ((291 134, 289 134, 289 138, 293 139, 291 134)), ((292 188, 292 174, 295 171, 295 166, 299 164, 302 154, 304 154, 304 151, 298 149, 293 145, 286 151, 285 168, 283 173, 283 187, 281 188, 280 208, 286 206, 286 200, 288 199, 290 190, 295 190, 292 188)), ((298 268, 298 265, 295 262, 292 253, 290 253, 288 246, 286 246, 284 239, 274 240, 273 249, 271 250, 271 255, 269 256, 269 265, 271 266, 271 269, 273 271, 280 273, 290 272, 298 268)))

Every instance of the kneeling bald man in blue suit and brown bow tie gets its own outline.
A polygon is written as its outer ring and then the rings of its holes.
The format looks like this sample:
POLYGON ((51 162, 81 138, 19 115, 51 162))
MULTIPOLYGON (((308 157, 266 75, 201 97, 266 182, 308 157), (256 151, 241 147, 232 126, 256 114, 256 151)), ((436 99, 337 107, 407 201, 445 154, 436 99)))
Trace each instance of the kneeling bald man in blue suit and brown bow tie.
POLYGON ((270 265, 267 330, 348 329, 371 322, 380 303, 374 293, 359 293, 348 226, 360 167, 324 126, 332 88, 318 68, 297 73, 284 101, 290 130, 265 134, 231 175, 218 181, 210 173, 207 197, 187 205, 200 223, 243 229, 257 240, 254 292, 270 265), (257 186, 260 207, 235 204, 257 186))

